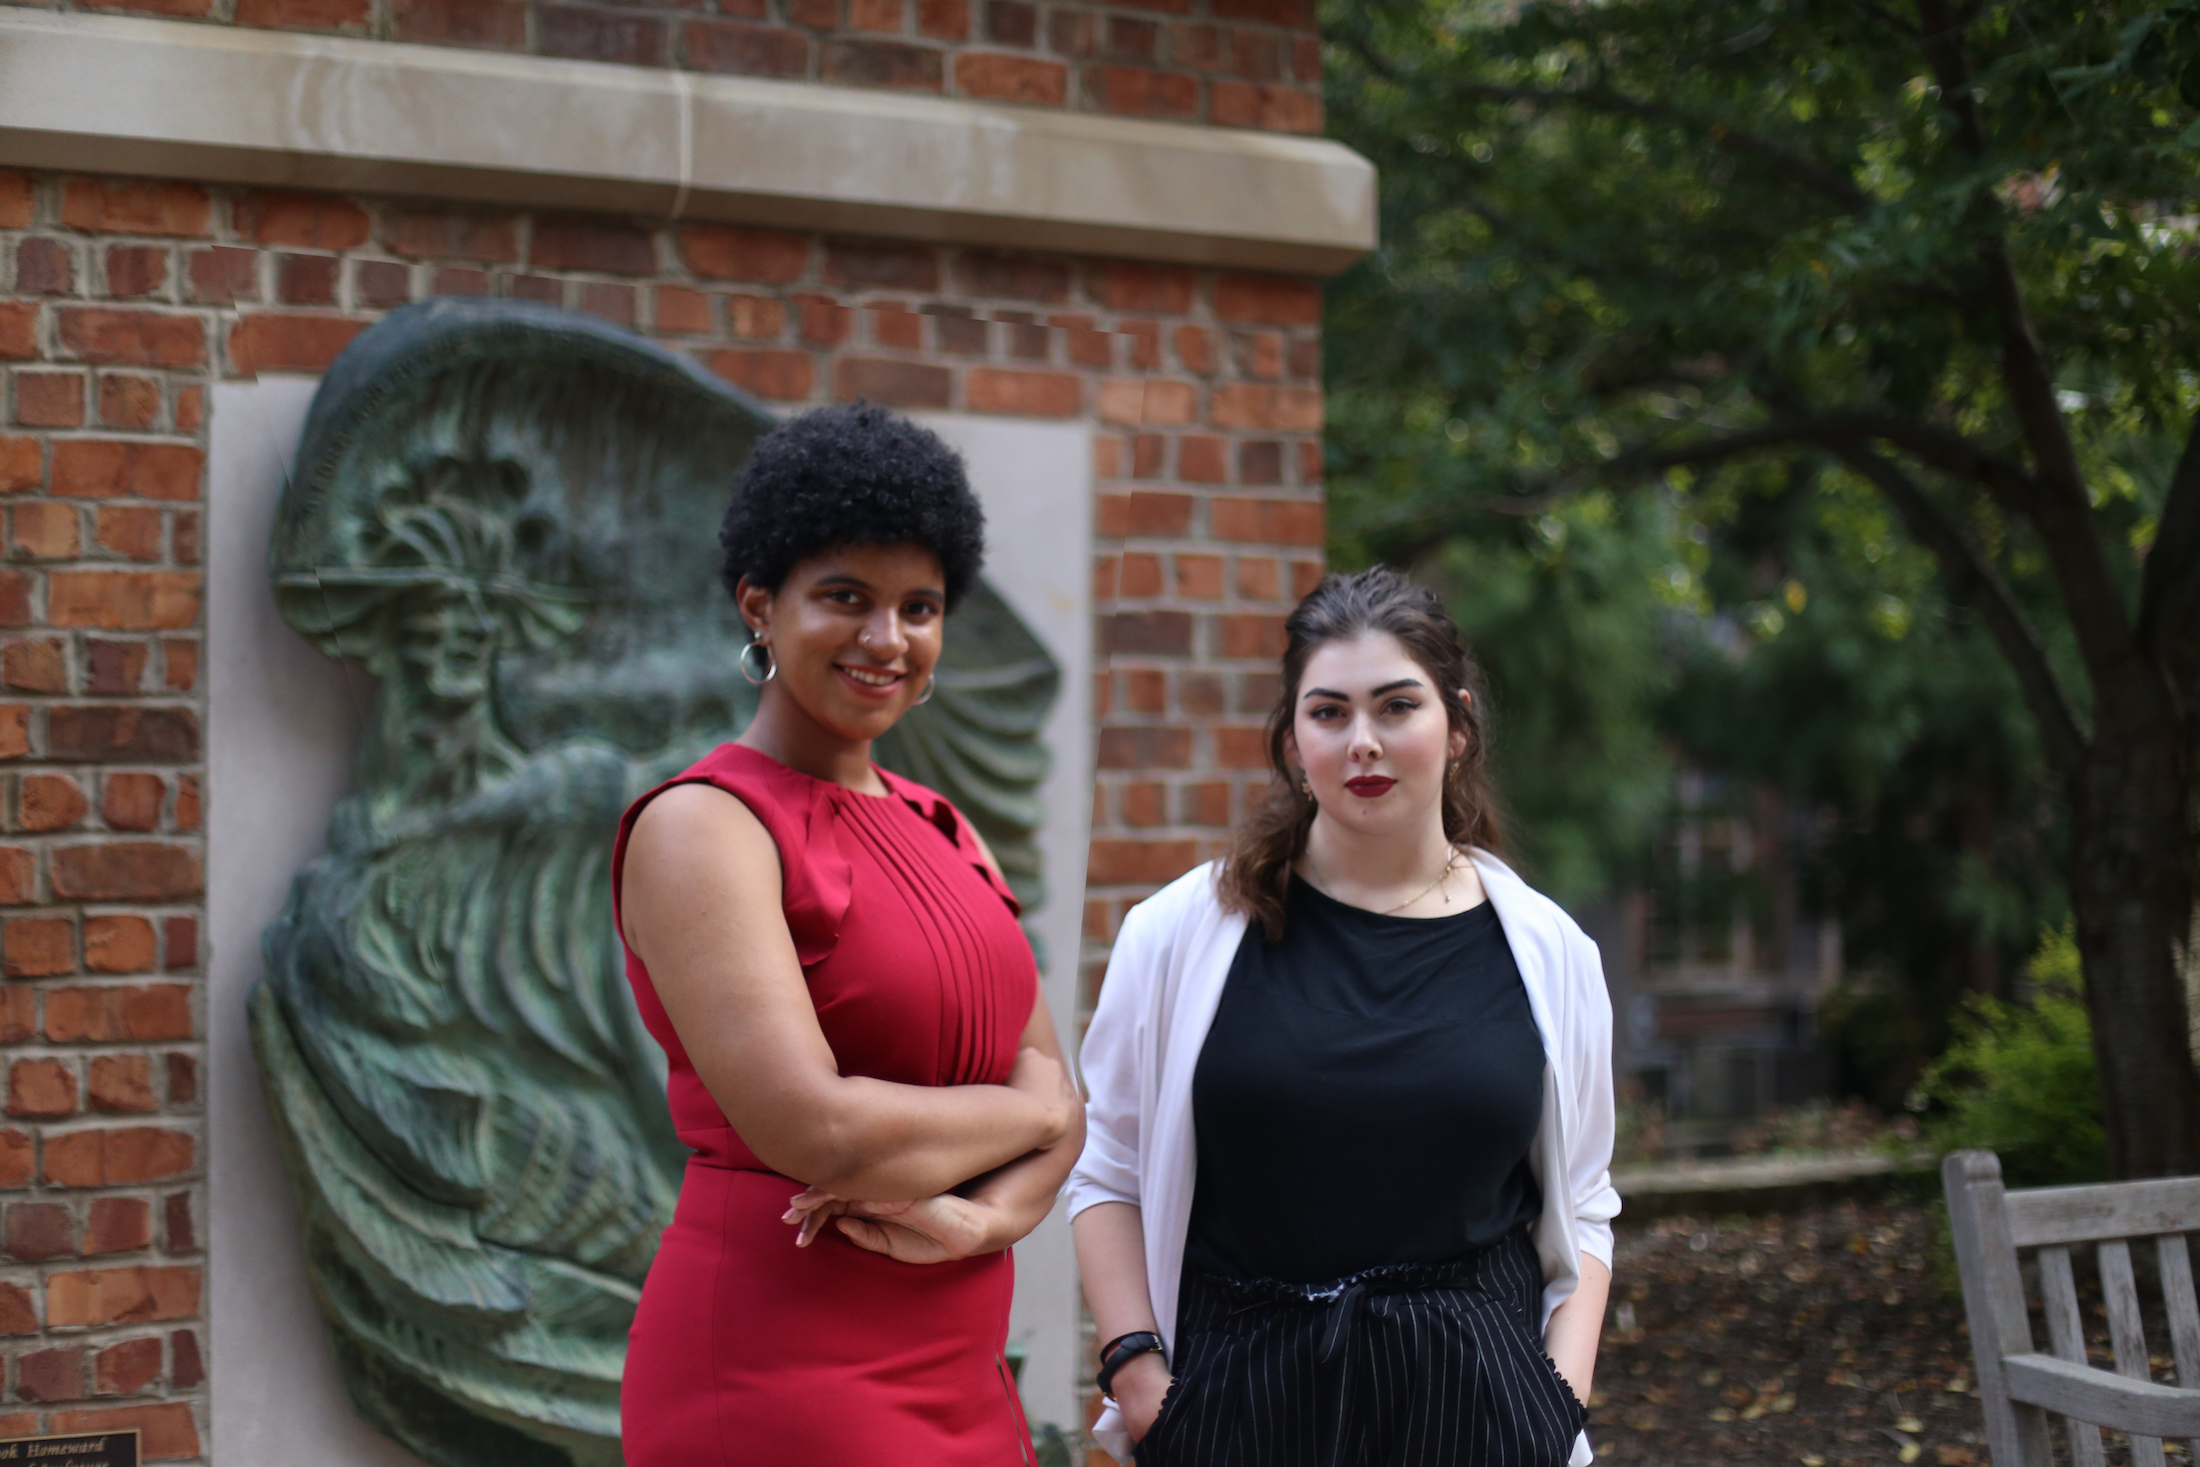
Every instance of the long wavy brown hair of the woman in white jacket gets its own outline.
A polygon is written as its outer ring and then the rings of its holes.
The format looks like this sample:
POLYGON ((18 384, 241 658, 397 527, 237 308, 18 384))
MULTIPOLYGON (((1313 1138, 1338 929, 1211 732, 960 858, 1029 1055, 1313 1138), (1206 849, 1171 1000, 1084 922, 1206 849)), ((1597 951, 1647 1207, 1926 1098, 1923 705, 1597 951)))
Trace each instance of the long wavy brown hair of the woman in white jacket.
POLYGON ((1467 735, 1467 748, 1443 783, 1445 838, 1489 853, 1505 851, 1496 792, 1489 787, 1483 675, 1443 603, 1388 565, 1355 576, 1324 576, 1283 620, 1283 686, 1276 691, 1276 708, 1267 715, 1267 765, 1274 779, 1267 798, 1232 831, 1230 856, 1223 858, 1217 878, 1223 906, 1258 922, 1269 941, 1283 937, 1291 864, 1307 849, 1307 829, 1316 812, 1313 796, 1300 790, 1300 776, 1283 757, 1283 739, 1291 732, 1298 706, 1298 684, 1307 675, 1307 658, 1318 647, 1368 631, 1388 631, 1399 640, 1406 655, 1419 662, 1437 686, 1452 730, 1467 735), (1459 688, 1467 688, 1472 702, 1461 702, 1459 688))

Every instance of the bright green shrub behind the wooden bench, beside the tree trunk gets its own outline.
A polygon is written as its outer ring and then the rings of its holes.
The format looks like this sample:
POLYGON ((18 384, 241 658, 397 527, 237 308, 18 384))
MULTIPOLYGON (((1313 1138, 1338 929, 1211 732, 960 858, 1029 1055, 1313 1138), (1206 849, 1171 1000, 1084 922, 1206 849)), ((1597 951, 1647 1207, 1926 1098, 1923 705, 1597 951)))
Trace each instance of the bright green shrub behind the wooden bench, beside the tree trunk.
POLYGON ((2092 1067, 2083 972, 2070 926, 2050 928, 2024 966, 2031 1003, 1969 996, 1956 1043, 1934 1060, 1914 1108, 1940 1150, 1991 1150, 2015 1188, 2099 1181, 2101 1087, 2092 1067))

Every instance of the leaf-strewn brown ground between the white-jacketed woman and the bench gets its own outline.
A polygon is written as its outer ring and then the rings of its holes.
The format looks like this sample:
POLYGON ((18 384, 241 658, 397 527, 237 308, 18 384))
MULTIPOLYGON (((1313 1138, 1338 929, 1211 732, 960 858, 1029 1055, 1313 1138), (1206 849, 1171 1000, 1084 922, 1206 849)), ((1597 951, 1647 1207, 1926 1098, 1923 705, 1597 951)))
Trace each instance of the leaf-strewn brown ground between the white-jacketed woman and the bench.
POLYGON ((1621 1218, 1588 1423, 1599 1467, 1989 1463, 1943 1271, 1923 1199, 1621 1218))

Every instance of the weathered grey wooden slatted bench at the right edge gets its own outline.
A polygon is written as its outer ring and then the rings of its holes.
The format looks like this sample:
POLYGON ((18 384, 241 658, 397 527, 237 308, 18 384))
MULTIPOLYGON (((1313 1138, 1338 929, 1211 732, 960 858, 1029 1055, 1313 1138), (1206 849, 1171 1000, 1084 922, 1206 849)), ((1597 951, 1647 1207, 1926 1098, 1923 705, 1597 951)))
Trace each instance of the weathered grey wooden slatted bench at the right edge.
POLYGON ((2185 1234, 2200 1232, 2200 1177, 2004 1192, 1991 1150, 1958 1150, 1940 1163, 1940 1183, 1995 1467, 2048 1467, 2048 1412, 2064 1419, 2075 1467, 2101 1465, 2099 1427, 2130 1434, 2132 1467, 2163 1467, 2165 1436, 2200 1438, 2200 1309, 2185 1247, 2185 1234), (2178 1386, 2158 1386, 2147 1368, 2132 1238, 2154 1240, 2178 1386), (2075 1243, 2097 1249, 2114 1372, 2086 1361, 2075 1243), (2033 1348, 2017 1249, 2039 1254, 2048 1355, 2033 1348))

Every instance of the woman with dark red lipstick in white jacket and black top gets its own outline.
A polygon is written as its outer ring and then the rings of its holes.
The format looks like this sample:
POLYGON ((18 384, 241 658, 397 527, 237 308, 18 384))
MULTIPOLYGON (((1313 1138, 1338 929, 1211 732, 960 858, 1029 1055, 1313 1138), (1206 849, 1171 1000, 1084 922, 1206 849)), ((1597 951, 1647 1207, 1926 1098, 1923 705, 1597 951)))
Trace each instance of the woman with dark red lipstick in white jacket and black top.
POLYGON ((1142 1467, 1582 1467, 1619 1196, 1597 948, 1500 858, 1430 592, 1285 622, 1274 783, 1124 919, 1069 1179, 1142 1467))

